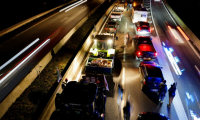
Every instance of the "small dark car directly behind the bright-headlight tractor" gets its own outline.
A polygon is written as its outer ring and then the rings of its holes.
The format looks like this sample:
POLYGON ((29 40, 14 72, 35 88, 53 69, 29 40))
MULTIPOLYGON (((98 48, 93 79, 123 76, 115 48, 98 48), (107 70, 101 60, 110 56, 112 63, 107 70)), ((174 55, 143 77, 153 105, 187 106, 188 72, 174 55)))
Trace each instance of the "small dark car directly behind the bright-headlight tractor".
POLYGON ((106 23, 105 31, 107 33, 117 33, 117 29, 119 28, 119 24, 114 21, 109 21, 106 23))

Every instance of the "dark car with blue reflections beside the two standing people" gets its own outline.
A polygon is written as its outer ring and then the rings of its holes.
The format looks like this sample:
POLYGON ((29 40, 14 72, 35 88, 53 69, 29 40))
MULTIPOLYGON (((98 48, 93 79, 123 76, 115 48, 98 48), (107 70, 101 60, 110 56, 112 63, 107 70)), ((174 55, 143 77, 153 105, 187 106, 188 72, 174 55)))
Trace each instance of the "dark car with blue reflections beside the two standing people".
POLYGON ((143 61, 139 65, 141 89, 147 92, 158 93, 159 84, 163 82, 162 67, 156 62, 143 61))

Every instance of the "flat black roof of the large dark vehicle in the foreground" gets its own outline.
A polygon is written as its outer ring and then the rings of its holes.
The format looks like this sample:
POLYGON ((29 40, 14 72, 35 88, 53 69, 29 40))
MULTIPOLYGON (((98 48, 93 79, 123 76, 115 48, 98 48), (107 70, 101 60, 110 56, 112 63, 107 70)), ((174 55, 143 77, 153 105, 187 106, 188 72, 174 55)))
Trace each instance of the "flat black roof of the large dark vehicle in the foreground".
POLYGON ((70 81, 61 93, 61 99, 64 103, 89 105, 95 100, 97 90, 95 83, 70 81))

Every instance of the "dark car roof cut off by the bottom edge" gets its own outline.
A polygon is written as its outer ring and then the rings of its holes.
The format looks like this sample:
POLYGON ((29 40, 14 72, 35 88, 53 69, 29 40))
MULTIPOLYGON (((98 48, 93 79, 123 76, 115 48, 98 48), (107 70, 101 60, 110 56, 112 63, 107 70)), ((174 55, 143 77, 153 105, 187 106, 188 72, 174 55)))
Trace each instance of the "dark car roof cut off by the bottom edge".
POLYGON ((138 115, 137 120, 170 120, 170 119, 161 113, 142 112, 138 115))

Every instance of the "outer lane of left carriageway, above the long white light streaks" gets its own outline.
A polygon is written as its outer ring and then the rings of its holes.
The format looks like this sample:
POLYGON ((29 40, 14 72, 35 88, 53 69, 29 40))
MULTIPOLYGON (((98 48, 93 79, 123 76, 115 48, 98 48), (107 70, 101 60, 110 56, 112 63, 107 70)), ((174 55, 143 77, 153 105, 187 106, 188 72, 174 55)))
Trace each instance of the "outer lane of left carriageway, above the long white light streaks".
POLYGON ((13 38, 7 40, 5 43, 1 44, 0 50, 6 52, 0 53, 1 56, 5 56, 1 59, 0 64, 5 63, 9 58, 17 54, 17 52, 19 52, 22 48, 27 46, 34 39, 46 39, 59 27, 64 27, 67 33, 69 30, 71 30, 71 28, 73 28, 74 25, 76 25, 83 17, 85 17, 85 15, 87 15, 90 12, 89 10, 99 5, 102 1, 99 0, 88 2, 89 3, 85 5, 89 7, 85 7, 83 9, 83 6, 80 5, 68 12, 56 13, 55 15, 50 17, 50 19, 46 19, 45 21, 35 25, 34 27, 28 28, 28 30, 23 31, 21 34, 14 36, 13 38), (62 22, 60 23, 60 21, 66 18, 66 16, 70 16, 75 19, 68 18, 66 19, 65 24, 63 24, 62 22))

